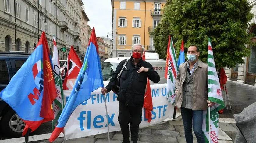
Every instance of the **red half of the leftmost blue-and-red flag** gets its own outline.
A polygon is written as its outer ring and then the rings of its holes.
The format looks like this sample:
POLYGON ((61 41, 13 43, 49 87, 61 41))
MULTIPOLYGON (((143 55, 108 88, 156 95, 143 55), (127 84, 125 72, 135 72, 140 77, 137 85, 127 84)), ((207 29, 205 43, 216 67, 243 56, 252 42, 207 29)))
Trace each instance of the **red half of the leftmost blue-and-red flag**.
POLYGON ((44 118, 41 121, 27 121, 25 125, 24 131, 22 135, 24 136, 28 128, 31 128, 34 131, 40 124, 52 121, 54 119, 53 110, 52 110, 52 102, 57 97, 56 89, 55 89, 55 81, 53 77, 52 71, 52 62, 50 60, 50 51, 48 47, 48 43, 46 40, 45 33, 43 31, 40 40, 38 41, 38 45, 43 45, 43 73, 44 73, 44 92, 43 99, 40 112, 40 117, 44 118), (28 126, 30 124, 30 126, 28 126))

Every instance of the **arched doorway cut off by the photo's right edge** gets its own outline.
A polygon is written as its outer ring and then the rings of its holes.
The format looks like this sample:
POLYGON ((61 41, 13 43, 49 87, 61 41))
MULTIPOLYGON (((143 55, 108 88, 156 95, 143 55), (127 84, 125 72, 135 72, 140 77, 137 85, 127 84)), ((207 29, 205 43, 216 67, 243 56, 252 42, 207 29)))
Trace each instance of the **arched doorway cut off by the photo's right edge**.
MULTIPOLYGON (((254 34, 254 37, 251 38, 251 42, 256 43, 256 25, 251 28, 249 33, 254 34)), ((247 57, 245 83, 254 85, 256 78, 256 46, 248 46, 248 48, 251 50, 251 55, 247 57)))

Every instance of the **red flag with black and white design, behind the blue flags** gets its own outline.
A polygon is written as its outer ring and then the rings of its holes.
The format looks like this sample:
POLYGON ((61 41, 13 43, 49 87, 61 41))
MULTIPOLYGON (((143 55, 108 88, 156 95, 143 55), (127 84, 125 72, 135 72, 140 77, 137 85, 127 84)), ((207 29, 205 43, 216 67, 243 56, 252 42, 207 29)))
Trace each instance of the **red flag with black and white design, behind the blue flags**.
POLYGON ((63 90, 73 89, 73 86, 75 85, 75 81, 81 67, 82 62, 76 54, 73 46, 71 46, 69 56, 64 68, 64 73, 62 76, 63 90))

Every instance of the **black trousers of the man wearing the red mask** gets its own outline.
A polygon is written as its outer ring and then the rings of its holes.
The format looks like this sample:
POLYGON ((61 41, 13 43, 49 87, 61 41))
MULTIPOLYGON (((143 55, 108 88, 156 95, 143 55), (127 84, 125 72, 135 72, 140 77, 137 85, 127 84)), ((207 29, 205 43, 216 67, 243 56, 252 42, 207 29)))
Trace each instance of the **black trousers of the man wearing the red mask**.
POLYGON ((119 102, 118 121, 123 134, 124 143, 130 143, 129 123, 131 123, 131 140, 134 142, 138 141, 139 125, 142 117, 142 106, 143 105, 131 107, 126 106, 125 103, 119 102))

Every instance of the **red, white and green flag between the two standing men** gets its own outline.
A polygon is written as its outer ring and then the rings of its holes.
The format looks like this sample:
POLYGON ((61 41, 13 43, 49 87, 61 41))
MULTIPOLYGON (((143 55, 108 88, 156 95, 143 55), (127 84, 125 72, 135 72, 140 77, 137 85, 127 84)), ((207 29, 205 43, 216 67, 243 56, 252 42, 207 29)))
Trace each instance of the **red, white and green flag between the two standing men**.
POLYGON ((167 100, 175 103, 175 78, 178 72, 178 64, 172 38, 169 36, 168 48, 166 53, 165 78, 167 78, 166 92, 167 100))

